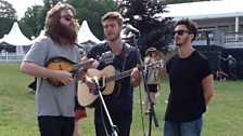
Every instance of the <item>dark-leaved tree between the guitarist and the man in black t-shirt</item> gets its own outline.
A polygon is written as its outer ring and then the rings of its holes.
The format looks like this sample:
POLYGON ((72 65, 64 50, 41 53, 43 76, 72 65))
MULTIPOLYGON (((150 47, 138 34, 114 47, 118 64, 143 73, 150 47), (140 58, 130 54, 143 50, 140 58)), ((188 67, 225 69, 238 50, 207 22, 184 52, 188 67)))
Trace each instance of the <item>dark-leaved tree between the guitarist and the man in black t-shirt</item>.
POLYGON ((167 51, 167 45, 171 42, 171 18, 156 17, 156 14, 167 12, 162 1, 123 0, 118 8, 125 24, 130 24, 140 30, 138 42, 142 55, 150 46, 167 51))

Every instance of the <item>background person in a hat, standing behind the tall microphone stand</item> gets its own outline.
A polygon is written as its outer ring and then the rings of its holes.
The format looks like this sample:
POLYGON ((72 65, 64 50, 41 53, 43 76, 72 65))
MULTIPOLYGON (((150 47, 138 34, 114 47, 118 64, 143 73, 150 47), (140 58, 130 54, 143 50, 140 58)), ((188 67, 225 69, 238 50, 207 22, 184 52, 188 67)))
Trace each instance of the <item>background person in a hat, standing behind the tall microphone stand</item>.
POLYGON ((157 60, 157 50, 155 47, 150 47, 146 50, 145 58, 144 58, 144 65, 146 69, 146 83, 149 87, 149 96, 146 94, 145 97, 145 114, 150 113, 150 99, 151 103, 155 104, 155 94, 161 89, 161 79, 159 79, 159 67, 156 67, 157 60), (152 65, 155 65, 154 68, 152 65), (148 67, 146 67, 148 66, 148 67), (151 66, 151 67, 150 67, 151 66))

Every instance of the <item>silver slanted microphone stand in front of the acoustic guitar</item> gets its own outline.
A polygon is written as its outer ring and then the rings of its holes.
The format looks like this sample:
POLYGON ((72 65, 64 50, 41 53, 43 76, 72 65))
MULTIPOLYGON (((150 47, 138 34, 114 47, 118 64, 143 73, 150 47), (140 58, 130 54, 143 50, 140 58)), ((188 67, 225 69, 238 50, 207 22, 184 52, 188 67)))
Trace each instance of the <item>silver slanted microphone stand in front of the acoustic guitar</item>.
MULTIPOLYGON (((116 125, 113 124, 112 118, 111 118, 111 115, 110 115, 110 113, 108 113, 108 110, 107 110, 107 107, 106 107, 106 105, 105 105, 104 98, 103 98, 102 93, 101 93, 101 91, 100 91, 100 84, 99 84, 98 78, 94 77, 94 78, 92 79, 92 81, 93 81, 93 83, 95 84, 95 89, 94 89, 93 94, 94 94, 94 95, 99 94, 99 97, 101 98, 102 105, 103 105, 103 107, 104 107, 105 113, 106 113, 106 115, 107 115, 108 122, 110 122, 111 127, 112 127, 112 136, 118 136, 118 133, 117 133, 117 132, 118 132, 118 128, 117 128, 116 125)), ((108 136, 108 135, 107 135, 107 136, 108 136)))

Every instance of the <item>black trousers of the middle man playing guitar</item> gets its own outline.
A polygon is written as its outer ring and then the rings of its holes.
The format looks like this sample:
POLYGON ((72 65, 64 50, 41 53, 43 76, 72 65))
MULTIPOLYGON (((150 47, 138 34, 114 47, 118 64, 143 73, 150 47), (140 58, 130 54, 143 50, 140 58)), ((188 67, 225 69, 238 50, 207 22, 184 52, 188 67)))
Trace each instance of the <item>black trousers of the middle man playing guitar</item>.
MULTIPOLYGON (((118 136, 129 136, 130 125, 132 122, 132 110, 119 110, 119 111, 110 111, 111 119, 113 124, 118 128, 118 136)), ((95 124, 95 136, 107 136, 113 133, 111 123, 108 122, 107 115, 104 112, 104 109, 94 110, 94 124, 95 124)))

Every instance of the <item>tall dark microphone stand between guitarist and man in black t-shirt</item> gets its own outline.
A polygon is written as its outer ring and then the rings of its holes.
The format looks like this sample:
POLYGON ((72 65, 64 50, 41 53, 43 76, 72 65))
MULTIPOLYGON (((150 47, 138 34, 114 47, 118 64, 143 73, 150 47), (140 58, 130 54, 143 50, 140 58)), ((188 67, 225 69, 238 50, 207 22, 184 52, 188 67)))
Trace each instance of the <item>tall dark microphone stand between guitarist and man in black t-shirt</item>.
MULTIPOLYGON (((141 35, 140 33, 138 33, 138 35, 139 35, 139 38, 140 38, 141 35)), ((131 38, 132 38, 133 44, 136 46, 136 51, 137 51, 137 55, 138 55, 138 58, 139 58, 140 66, 142 66, 143 62, 142 62, 141 54, 139 53, 139 47, 138 47, 138 44, 136 42, 136 36, 135 36, 135 33, 132 33, 131 38)), ((155 124, 156 127, 158 127, 158 122, 157 122, 157 118, 156 118, 155 110, 154 110, 154 103, 152 103, 151 97, 150 97, 148 81, 145 80, 146 78, 145 78, 143 68, 140 71, 142 72, 143 84, 144 84, 144 89, 145 89, 145 92, 146 92, 146 95, 148 95, 148 98, 149 98, 149 103, 150 103, 149 136, 151 136, 151 132, 152 132, 152 119, 154 119, 154 124, 155 124)))

